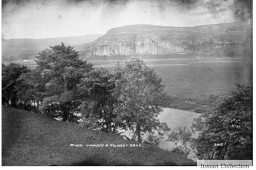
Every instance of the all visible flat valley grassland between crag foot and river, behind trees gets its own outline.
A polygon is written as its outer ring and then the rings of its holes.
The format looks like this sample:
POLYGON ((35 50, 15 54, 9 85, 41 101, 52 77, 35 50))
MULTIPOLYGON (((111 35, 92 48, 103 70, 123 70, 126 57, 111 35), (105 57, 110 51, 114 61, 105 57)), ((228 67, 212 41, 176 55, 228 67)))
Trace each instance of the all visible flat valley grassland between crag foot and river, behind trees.
MULTIPOLYGON (((177 56, 176 56, 177 57, 177 56)), ((118 60, 88 61, 94 67, 114 70, 118 60)), ((251 82, 251 65, 245 58, 145 58, 144 63, 162 78, 165 92, 172 97, 163 107, 207 112, 216 96, 236 90, 235 83, 251 82)), ((120 61, 121 65, 125 60, 120 61)), ((28 65, 34 69, 35 65, 28 65)))

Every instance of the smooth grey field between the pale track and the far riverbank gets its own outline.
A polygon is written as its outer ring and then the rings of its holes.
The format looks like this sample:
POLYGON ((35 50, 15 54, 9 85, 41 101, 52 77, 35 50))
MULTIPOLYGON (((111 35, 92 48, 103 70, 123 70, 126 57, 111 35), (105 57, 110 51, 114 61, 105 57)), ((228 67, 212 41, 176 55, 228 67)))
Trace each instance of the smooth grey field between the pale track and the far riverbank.
POLYGON ((250 82, 250 65, 243 61, 208 61, 188 65, 151 66, 162 77, 167 94, 210 104, 214 96, 236 90, 235 83, 250 82))

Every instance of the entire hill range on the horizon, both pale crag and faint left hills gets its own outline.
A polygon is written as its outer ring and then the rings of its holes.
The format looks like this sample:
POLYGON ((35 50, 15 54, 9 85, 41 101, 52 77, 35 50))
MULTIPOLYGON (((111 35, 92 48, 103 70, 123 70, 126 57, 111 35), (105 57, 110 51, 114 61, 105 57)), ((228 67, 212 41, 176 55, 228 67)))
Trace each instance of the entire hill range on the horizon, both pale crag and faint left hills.
POLYGON ((251 25, 245 22, 170 27, 126 25, 105 35, 57 37, 51 39, 2 40, 2 62, 31 60, 50 45, 64 42, 75 46, 83 59, 122 59, 130 56, 161 58, 170 55, 233 57, 249 49, 251 25), (106 57, 108 56, 108 57, 106 57))

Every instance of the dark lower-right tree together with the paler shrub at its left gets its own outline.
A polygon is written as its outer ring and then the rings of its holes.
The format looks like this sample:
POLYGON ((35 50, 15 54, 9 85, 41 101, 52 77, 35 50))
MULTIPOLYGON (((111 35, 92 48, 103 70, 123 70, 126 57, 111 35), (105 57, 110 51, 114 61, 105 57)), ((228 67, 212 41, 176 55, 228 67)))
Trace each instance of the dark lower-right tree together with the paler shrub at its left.
POLYGON ((252 159, 252 100, 252 88, 237 84, 237 91, 195 118, 191 130, 178 128, 168 141, 198 159, 252 159))

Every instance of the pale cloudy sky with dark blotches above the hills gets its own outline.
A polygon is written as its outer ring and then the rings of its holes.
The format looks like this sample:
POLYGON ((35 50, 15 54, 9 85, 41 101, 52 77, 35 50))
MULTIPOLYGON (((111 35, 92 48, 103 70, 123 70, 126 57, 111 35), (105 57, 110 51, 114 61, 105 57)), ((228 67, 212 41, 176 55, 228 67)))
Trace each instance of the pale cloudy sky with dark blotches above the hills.
POLYGON ((104 34, 131 24, 189 27, 251 18, 252 0, 3 0, 5 39, 104 34))

